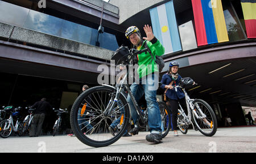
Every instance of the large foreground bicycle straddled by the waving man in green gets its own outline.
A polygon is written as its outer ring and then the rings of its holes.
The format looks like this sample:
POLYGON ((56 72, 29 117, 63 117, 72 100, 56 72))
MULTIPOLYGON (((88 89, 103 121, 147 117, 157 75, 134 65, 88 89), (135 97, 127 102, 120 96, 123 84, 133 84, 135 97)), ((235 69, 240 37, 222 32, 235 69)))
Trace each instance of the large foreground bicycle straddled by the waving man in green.
MULTIPOLYGON (((127 49, 127 54, 125 55, 126 58, 122 59, 122 64, 127 67, 135 55, 148 50, 148 48, 139 51, 135 49, 127 49)), ((123 89, 126 89, 127 93, 130 95, 140 121, 143 125, 147 124, 147 114, 145 113, 146 115, 143 115, 141 113, 141 109, 131 93, 129 85, 125 83, 125 81, 127 81, 127 74, 128 72, 115 87, 102 84, 101 86, 87 89, 85 92, 82 92, 73 103, 70 115, 71 128, 77 139, 82 143, 93 147, 108 146, 115 143, 115 141, 117 141, 127 130, 127 125, 131 122, 131 114, 129 103, 127 102, 126 96, 123 94, 123 89), (79 109, 82 110, 80 111, 79 109), (89 112, 85 112, 86 110, 92 110, 94 115, 92 116, 89 112), (84 116, 84 118, 78 119, 79 115, 84 116), (113 134, 110 130, 110 124, 117 119, 120 119, 120 121, 118 123, 118 128, 115 128, 115 133, 113 134), (81 120, 88 122, 92 128, 88 128, 88 131, 83 133, 82 130, 88 127, 88 125, 80 128, 81 124, 78 122, 81 120)), ((168 121, 168 124, 166 124, 167 122, 164 122, 166 120, 166 115, 170 118, 170 110, 166 106, 166 103, 163 102, 161 104, 164 106, 164 109, 166 109, 162 110, 162 125, 165 125, 163 133, 164 137, 171 127, 170 121, 168 121), (165 113, 167 114, 164 116, 165 113)))

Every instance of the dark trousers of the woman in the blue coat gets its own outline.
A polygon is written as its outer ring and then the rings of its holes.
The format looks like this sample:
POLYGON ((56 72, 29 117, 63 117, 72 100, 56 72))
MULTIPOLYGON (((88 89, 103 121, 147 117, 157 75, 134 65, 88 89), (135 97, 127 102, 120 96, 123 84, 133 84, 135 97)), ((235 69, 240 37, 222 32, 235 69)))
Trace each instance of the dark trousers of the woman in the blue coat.
POLYGON ((178 130, 178 127, 177 127, 177 113, 178 113, 177 109, 179 107, 178 102, 180 102, 180 105, 184 111, 187 111, 187 105, 185 102, 185 98, 181 98, 179 100, 169 100, 169 102, 170 102, 171 111, 172 111, 172 126, 174 127, 174 130, 176 131, 176 130, 178 130))

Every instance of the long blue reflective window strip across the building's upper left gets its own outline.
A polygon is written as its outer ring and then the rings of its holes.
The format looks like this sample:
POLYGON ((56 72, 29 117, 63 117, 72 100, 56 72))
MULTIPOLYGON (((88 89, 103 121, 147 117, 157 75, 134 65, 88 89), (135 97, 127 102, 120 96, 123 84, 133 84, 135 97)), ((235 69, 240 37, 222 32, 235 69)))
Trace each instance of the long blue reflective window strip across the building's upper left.
MULTIPOLYGON (((0 1, 0 21, 94 46, 98 36, 97 29, 3 1, 0 1)), ((114 34, 104 32, 98 41, 101 48, 113 51, 118 48, 114 34)))

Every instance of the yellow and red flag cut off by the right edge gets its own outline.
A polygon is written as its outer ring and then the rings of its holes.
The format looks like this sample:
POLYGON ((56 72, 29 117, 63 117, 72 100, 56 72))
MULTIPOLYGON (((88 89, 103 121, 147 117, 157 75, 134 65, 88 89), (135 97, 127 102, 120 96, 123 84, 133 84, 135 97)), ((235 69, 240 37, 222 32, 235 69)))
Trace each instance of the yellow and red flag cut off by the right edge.
POLYGON ((256 0, 241 0, 248 38, 256 38, 256 0))

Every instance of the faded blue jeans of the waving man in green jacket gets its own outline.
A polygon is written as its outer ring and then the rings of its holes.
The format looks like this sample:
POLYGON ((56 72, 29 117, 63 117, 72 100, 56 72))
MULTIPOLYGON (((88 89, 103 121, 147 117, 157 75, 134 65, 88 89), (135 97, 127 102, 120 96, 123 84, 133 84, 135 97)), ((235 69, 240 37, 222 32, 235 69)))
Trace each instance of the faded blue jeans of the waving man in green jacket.
MULTIPOLYGON (((158 102, 156 102, 156 89, 158 88, 158 84, 154 85, 155 83, 158 83, 158 80, 154 80, 154 74, 151 74, 144 79, 139 79, 139 84, 133 83, 130 89, 137 102, 145 93, 145 99, 148 108, 148 126, 150 126, 150 133, 160 134, 162 133, 162 120, 160 116, 158 102)), ((137 111, 133 105, 133 101, 131 101, 130 95, 128 95, 127 101, 131 108, 131 117, 133 118, 134 124, 137 124, 139 115, 137 114, 137 111)))

